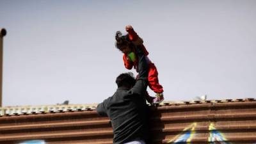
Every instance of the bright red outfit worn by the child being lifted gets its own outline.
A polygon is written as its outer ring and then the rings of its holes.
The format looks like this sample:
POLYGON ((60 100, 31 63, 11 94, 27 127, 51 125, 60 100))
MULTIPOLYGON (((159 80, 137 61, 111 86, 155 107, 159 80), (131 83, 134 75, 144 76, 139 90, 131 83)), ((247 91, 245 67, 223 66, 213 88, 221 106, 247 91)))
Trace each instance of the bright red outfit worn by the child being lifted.
MULTIPOLYGON (((129 33, 129 39, 131 41, 138 40, 139 36, 134 31, 134 29, 129 29, 127 32, 129 33)), ((147 61, 148 61, 148 67, 149 67, 149 69, 148 69, 148 86, 154 92, 162 93, 163 92, 163 86, 161 86, 161 84, 159 84, 157 68, 154 65, 154 63, 152 63, 148 59, 148 57, 147 57, 148 51, 147 51, 146 47, 143 44, 139 45, 139 47, 144 52, 144 54, 147 58, 147 61)), ((131 68, 134 67, 136 69, 136 71, 138 72, 138 60, 137 60, 137 58, 134 62, 132 62, 127 58, 127 54, 124 54, 123 60, 124 60, 125 68, 131 70, 131 68)))

